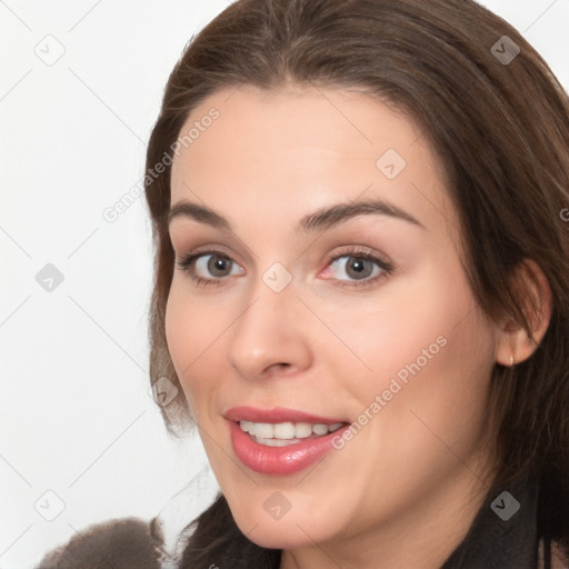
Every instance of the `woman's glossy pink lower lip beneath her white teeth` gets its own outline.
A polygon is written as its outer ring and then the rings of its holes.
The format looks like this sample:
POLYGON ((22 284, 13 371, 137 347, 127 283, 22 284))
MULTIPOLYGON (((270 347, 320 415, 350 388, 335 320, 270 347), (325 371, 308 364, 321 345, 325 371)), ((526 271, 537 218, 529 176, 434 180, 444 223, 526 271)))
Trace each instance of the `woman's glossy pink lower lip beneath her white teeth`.
POLYGON ((230 421, 231 443, 239 460, 251 470, 263 475, 292 475, 313 465, 332 450, 332 439, 349 425, 323 437, 293 442, 287 447, 268 447, 256 442, 239 423, 230 421))

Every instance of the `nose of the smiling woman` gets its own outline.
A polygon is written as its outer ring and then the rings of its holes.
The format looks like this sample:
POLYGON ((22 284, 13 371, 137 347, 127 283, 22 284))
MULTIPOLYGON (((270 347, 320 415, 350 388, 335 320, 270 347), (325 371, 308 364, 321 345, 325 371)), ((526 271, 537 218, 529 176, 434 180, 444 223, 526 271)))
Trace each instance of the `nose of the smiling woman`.
POLYGON ((248 300, 231 327, 230 365, 249 380, 306 370, 311 362, 309 328, 293 283, 274 292, 259 278, 248 300))

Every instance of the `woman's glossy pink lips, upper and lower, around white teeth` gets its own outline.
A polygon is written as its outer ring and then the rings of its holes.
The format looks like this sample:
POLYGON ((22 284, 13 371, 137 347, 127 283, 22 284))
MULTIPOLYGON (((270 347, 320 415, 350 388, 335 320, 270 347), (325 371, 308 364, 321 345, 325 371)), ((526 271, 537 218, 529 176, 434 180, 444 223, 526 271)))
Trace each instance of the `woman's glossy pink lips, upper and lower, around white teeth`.
POLYGON ((315 439, 306 439, 287 447, 268 447, 256 442, 251 436, 239 427, 238 421, 253 422, 310 422, 333 425, 347 422, 341 419, 329 419, 308 415, 292 409, 273 408, 256 409, 252 407, 234 407, 226 413, 229 422, 231 443, 239 460, 251 470, 264 475, 291 475, 299 472, 325 457, 332 447, 332 439, 342 435, 350 426, 340 427, 335 432, 315 439))

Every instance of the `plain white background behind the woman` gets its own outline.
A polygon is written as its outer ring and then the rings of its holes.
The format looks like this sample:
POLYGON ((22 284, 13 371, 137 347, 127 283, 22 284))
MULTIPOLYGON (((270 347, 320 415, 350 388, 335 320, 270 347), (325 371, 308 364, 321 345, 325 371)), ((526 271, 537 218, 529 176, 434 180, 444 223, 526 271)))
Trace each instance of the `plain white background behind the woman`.
MULTIPOLYGON (((482 3, 569 88, 569 0, 482 3)), ((90 523, 150 519, 206 465, 148 393, 143 198, 112 223, 102 211, 140 180, 170 70, 227 6, 0 1, 1 569, 32 567, 90 523), (36 53, 46 42, 64 49, 51 66, 36 53), (64 278, 51 292, 36 281, 47 263, 64 278), (59 500, 53 521, 34 509, 59 500)))

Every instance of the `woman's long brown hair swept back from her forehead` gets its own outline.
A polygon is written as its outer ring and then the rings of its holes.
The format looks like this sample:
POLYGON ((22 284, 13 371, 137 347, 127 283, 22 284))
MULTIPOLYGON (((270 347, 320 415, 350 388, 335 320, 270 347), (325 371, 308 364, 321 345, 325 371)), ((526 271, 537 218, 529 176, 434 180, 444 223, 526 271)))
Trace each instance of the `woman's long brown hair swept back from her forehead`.
MULTIPOLYGON (((528 360, 512 370, 495 366, 489 422, 497 426, 501 459, 496 486, 541 477, 540 531, 567 536, 569 222, 561 216, 569 202, 567 93, 516 29, 472 0, 239 0, 192 38, 176 64, 147 169, 170 151, 188 114, 214 91, 288 82, 356 87, 419 121, 443 164, 462 230, 465 271, 490 319, 509 315, 531 337, 527 309, 535 299, 516 286, 515 269, 529 258, 543 270, 552 291, 549 328, 528 360), (503 36, 520 49, 511 61, 499 57, 515 54, 503 36)), ((169 167, 149 180, 146 197, 156 242, 151 379, 166 376, 179 385, 164 337, 173 271, 169 167)), ((172 435, 191 422, 181 389, 162 412, 172 435)), ((191 559, 218 551, 211 559, 219 563, 224 559, 219 551, 230 542, 247 543, 222 496, 196 523, 191 559)), ((258 549, 259 563, 278 567, 274 552, 258 549)))

